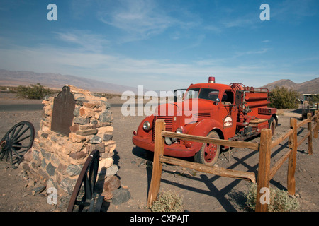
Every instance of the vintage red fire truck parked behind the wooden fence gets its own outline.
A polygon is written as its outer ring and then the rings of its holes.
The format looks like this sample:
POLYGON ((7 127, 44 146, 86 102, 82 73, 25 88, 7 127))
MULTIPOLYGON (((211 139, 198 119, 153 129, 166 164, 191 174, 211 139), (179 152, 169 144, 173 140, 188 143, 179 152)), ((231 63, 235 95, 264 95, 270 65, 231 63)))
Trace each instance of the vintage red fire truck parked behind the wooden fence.
MULTIPOLYGON (((269 99, 267 88, 218 84, 209 77, 208 83, 191 84, 181 101, 159 105, 133 132, 133 143, 154 151, 157 119, 164 119, 166 131, 225 140, 244 141, 264 128, 274 134, 278 117, 276 108, 269 107, 269 99)), ((164 155, 194 156, 195 162, 214 165, 221 148, 228 147, 165 138, 164 155)))

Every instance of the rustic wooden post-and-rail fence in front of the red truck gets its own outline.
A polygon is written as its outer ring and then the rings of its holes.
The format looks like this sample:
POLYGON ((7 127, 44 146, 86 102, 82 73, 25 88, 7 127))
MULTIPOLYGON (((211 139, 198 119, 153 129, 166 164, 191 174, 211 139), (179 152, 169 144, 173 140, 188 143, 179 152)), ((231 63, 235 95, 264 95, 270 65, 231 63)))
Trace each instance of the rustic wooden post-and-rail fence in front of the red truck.
POLYGON ((164 138, 179 138, 181 140, 196 141, 201 143, 213 143, 216 145, 224 145, 234 148, 250 148, 252 150, 259 151, 259 166, 257 173, 257 200, 256 200, 256 212, 267 212, 268 204, 261 200, 262 193, 258 191, 264 191, 264 188, 269 189, 269 181, 274 177, 274 174, 283 165, 288 158, 288 174, 287 174, 287 189, 289 194, 295 194, 295 170, 296 170, 296 155, 297 148, 303 141, 308 138, 308 154, 313 155, 313 142, 312 139, 318 138, 319 129, 319 113, 315 111, 315 114, 311 116, 308 114, 308 118, 297 124, 297 119, 291 119, 291 129, 286 131, 284 135, 272 141, 272 131, 270 129, 262 129, 259 143, 252 143, 247 141, 225 141, 216 138, 206 138, 202 136, 193 136, 188 134, 174 133, 165 131, 164 119, 157 119, 155 123, 155 152, 152 169, 152 179, 150 183, 150 189, 147 197, 147 206, 152 206, 152 203, 156 200, 159 193, 159 186, 162 176, 162 163, 168 163, 172 165, 179 165, 189 169, 195 169, 199 172, 206 172, 215 174, 220 177, 231 177, 235 179, 245 179, 256 183, 256 174, 254 172, 243 172, 233 169, 225 169, 222 167, 209 167, 196 162, 188 162, 173 157, 164 156, 164 138), (312 124, 314 121, 314 124, 312 124), (301 141, 297 139, 298 129, 301 126, 308 125, 308 133, 301 141), (271 151, 276 145, 289 138, 289 151, 287 151, 276 163, 270 167, 271 163, 271 151))

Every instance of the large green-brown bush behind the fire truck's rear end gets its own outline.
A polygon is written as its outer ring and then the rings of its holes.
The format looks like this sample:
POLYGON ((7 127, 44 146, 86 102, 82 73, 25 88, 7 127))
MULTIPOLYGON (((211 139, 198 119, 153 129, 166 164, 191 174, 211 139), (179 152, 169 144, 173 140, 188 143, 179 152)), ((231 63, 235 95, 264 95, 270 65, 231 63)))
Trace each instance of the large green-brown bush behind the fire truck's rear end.
POLYGON ((296 91, 276 85, 272 93, 270 93, 270 107, 276 107, 277 109, 298 108, 298 96, 299 94, 296 91))

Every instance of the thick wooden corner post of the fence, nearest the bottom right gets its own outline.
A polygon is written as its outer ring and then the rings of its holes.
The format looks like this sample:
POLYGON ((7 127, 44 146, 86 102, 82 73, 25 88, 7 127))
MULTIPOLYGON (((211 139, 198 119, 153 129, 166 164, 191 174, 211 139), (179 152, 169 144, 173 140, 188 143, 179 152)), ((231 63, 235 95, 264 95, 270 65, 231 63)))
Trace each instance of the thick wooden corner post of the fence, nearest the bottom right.
POLYGON ((272 131, 262 129, 260 135, 259 164, 257 177, 257 198, 256 212, 267 212, 270 198, 269 174, 270 174, 270 153, 272 145, 272 131), (268 190, 267 190, 268 189, 268 190), (265 193, 262 195, 262 193, 265 193))

